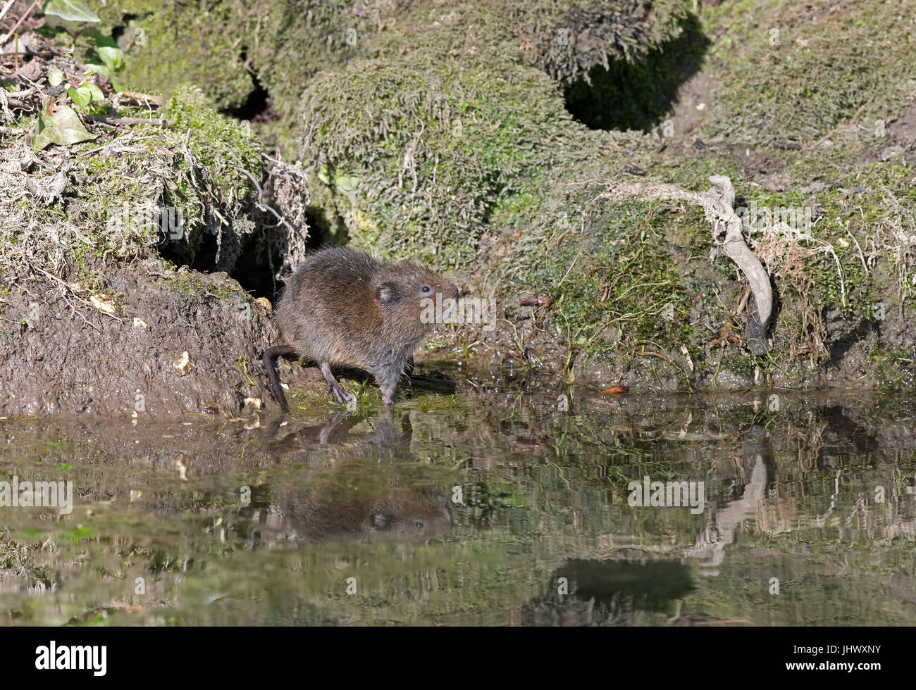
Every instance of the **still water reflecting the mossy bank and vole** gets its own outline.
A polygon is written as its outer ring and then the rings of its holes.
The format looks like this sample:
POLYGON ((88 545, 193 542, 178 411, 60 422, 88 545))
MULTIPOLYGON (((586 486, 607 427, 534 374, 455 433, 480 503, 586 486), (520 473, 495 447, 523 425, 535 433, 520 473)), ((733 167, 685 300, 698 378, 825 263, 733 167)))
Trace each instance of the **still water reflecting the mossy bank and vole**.
POLYGON ((908 400, 572 393, 0 421, 0 624, 916 624, 908 400))

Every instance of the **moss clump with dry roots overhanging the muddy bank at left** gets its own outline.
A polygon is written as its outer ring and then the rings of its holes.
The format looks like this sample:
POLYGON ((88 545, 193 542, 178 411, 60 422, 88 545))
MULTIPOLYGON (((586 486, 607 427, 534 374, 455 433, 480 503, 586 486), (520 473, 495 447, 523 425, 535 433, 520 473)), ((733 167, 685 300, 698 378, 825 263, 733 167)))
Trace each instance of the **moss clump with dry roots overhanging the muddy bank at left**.
POLYGON ((95 263, 90 255, 127 262, 158 252, 178 264, 212 261, 230 270, 246 235, 255 231, 255 184, 242 171, 261 178, 261 146, 193 87, 176 89, 163 114, 175 126, 132 125, 129 133, 73 146, 79 184, 40 216, 20 199, 9 212, 26 221, 5 228, 4 242, 26 241, 30 255, 55 269, 66 262, 78 275, 95 263), (168 243, 160 236, 163 218, 181 221, 181 232, 169 227, 176 237, 168 243), (27 232, 35 224, 46 230, 27 232), (218 260, 200 254, 213 237, 224 243, 218 260))

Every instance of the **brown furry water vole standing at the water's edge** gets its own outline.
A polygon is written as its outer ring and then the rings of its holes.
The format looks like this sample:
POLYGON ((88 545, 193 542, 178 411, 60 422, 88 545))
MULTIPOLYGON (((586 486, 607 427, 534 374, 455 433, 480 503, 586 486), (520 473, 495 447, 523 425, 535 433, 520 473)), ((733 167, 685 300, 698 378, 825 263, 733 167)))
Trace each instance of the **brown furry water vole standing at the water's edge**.
MULTIPOLYGON (((278 357, 315 362, 338 403, 355 400, 334 379, 333 366, 371 373, 385 404, 394 403, 404 365, 431 329, 424 308, 457 299, 458 288, 416 264, 381 264, 352 249, 324 249, 311 254, 290 278, 277 305, 276 323, 284 344, 264 350, 270 389, 289 412, 280 388, 278 357)), ((447 315, 446 315, 447 316, 447 315)))

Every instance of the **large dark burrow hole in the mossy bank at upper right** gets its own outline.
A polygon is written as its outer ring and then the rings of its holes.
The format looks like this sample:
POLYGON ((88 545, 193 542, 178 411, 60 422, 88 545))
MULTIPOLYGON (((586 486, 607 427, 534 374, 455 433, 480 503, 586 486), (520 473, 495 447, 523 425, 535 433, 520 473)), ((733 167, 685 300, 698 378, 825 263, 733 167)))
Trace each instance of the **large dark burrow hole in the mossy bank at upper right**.
POLYGON ((566 110, 590 129, 649 132, 671 112, 677 92, 703 65, 711 41, 696 17, 682 22, 682 34, 636 62, 614 60, 565 89, 566 110), (589 83, 591 81, 591 83, 589 83))

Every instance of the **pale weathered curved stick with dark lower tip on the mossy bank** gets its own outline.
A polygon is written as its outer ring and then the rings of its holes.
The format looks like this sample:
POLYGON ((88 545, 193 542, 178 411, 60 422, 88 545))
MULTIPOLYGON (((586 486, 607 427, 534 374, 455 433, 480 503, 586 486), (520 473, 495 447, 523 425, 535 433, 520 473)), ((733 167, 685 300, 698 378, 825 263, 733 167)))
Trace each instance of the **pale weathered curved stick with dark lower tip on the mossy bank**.
POLYGON ((773 313, 773 289, 769 285, 769 274, 760 264, 757 256, 750 251, 741 233, 741 219, 735 212, 735 188, 725 175, 710 176, 709 181, 720 191, 707 191, 703 209, 706 219, 713 223, 713 239, 722 245, 728 257, 734 261, 754 293, 757 313, 747 319, 747 344, 756 355, 767 353, 767 327, 773 313))

